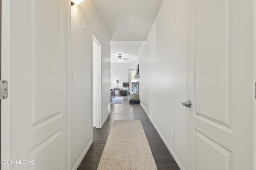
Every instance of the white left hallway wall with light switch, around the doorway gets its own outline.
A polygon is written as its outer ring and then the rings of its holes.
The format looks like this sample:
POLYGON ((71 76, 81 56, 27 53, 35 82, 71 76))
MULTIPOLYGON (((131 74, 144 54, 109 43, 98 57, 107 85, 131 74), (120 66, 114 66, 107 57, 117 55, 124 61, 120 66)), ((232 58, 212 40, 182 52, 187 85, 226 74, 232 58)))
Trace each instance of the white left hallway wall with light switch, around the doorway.
POLYGON ((71 7, 69 75, 70 166, 77 168, 93 139, 92 30, 102 45, 102 120, 110 103, 110 39, 94 0, 71 7), (84 29, 86 20, 87 30, 84 29), (77 71, 77 80, 72 72, 77 71))

